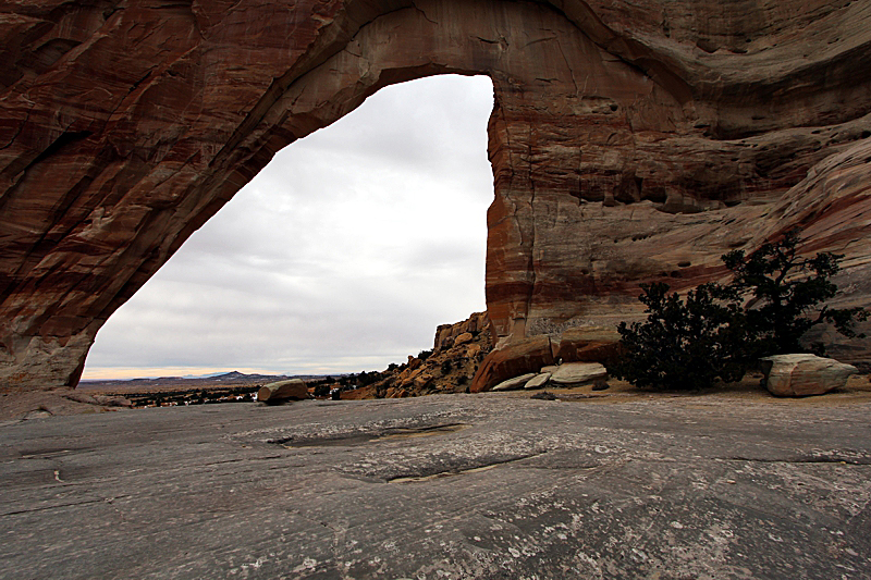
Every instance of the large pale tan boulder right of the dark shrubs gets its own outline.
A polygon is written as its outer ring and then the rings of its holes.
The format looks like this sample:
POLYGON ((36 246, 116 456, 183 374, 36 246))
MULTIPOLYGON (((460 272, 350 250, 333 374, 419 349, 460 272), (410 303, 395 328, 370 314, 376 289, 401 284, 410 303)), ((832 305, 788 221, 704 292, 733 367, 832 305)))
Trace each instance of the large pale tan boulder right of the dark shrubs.
POLYGON ((765 387, 777 397, 823 395, 847 384, 858 370, 814 355, 776 355, 761 359, 765 387))

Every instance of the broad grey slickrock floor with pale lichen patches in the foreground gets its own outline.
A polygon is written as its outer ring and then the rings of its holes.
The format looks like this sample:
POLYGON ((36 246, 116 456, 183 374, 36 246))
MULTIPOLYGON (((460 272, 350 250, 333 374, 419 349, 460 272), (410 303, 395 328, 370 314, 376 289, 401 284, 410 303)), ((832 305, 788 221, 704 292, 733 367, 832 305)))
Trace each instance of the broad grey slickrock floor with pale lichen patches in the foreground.
POLYGON ((7 420, 0 578, 867 579, 871 403, 809 400, 7 420))

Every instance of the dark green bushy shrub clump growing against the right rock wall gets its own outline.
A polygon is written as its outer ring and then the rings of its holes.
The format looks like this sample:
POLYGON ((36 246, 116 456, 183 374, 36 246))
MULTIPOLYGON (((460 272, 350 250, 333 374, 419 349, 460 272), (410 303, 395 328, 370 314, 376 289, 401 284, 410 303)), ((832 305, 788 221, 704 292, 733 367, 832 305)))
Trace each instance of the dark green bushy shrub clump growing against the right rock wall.
MULTIPOLYGON (((663 283, 642 284, 645 322, 617 329, 623 359, 611 372, 639 387, 703 388, 714 380, 738 381, 760 357, 802 353, 805 333, 829 322, 842 334, 858 335, 855 323, 867 320, 862 308, 835 309, 823 303, 837 293, 831 276, 843 256, 797 254, 797 231, 762 245, 749 257, 732 251, 722 257, 735 274, 727 285, 703 284, 686 300, 668 294, 663 283)), ((822 345, 811 348, 823 353, 822 345)))

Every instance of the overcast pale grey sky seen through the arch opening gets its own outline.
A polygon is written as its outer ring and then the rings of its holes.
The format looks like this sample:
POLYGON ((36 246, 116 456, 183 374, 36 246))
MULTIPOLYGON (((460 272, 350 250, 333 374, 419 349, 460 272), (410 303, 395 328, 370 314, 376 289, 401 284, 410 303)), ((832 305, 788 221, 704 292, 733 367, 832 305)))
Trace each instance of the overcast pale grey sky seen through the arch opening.
POLYGON ((483 310, 486 77, 388 87, 279 152, 106 323, 85 379, 383 370, 483 310))

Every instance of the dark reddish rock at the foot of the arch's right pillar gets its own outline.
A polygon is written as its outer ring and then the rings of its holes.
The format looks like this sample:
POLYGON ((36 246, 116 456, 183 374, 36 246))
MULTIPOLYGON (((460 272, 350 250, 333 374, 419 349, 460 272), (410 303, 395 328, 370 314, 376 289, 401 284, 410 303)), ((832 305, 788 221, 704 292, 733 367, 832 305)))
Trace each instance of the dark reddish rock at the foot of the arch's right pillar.
POLYGON ((548 336, 516 341, 484 357, 471 381, 470 391, 489 391, 502 381, 530 372, 538 373, 541 367, 552 363, 553 353, 548 336))

